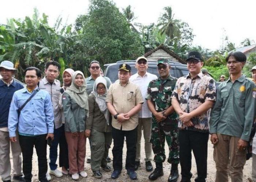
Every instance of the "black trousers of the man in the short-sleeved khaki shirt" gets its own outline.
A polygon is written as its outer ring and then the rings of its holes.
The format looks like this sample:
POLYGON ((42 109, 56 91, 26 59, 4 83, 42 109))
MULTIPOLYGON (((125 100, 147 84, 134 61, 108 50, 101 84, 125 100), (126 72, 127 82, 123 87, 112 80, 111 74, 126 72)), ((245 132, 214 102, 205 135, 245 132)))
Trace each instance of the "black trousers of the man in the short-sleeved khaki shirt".
POLYGON ((137 141, 137 129, 138 126, 129 131, 117 130, 112 127, 112 135, 114 141, 114 147, 112 149, 113 153, 113 168, 114 170, 122 170, 123 168, 123 147, 124 147, 124 137, 126 139, 126 162, 125 169, 134 170, 135 168, 135 158, 136 158, 136 141, 137 141))

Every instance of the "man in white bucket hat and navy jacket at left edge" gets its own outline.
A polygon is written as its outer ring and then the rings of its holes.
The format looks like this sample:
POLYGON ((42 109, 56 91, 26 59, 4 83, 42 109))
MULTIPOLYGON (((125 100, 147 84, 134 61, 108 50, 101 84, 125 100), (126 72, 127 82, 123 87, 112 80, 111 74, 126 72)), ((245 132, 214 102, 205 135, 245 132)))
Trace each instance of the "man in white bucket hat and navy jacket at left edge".
MULTIPOLYGON (((3 61, 0 64, 0 176, 2 181, 11 182, 11 162, 10 162, 10 140, 8 132, 8 115, 12 96, 15 91, 23 87, 16 82, 12 76, 18 70, 10 61, 3 61)), ((18 135, 17 135, 18 136, 18 135)), ((13 179, 23 181, 21 167, 21 149, 19 140, 11 142, 12 159, 13 159, 13 179)))

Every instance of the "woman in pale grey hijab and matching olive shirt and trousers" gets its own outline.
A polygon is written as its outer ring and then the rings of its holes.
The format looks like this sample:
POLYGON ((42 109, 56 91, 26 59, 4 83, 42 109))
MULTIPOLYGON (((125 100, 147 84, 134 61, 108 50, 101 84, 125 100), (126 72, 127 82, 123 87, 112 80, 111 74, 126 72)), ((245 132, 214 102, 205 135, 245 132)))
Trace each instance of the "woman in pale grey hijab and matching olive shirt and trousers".
POLYGON ((110 171, 106 160, 112 142, 109 111, 105 102, 107 92, 106 80, 99 76, 88 96, 89 118, 86 122, 86 137, 91 139, 91 170, 95 178, 102 177, 100 167, 104 171, 110 171))

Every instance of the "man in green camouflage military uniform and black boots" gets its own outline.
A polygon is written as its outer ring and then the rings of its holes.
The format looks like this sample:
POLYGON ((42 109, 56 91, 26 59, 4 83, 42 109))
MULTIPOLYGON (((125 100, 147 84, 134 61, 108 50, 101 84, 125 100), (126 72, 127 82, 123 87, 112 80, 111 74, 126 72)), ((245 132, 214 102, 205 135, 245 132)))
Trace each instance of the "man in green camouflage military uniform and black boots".
POLYGON ((156 169, 148 177, 155 180, 163 175, 163 162, 165 161, 165 139, 169 146, 168 162, 172 164, 169 182, 176 182, 179 163, 178 143, 178 115, 171 104, 171 95, 175 87, 176 78, 173 78, 170 71, 168 59, 157 60, 157 70, 160 77, 148 85, 146 97, 149 110, 152 112, 151 143, 155 154, 154 162, 156 169))

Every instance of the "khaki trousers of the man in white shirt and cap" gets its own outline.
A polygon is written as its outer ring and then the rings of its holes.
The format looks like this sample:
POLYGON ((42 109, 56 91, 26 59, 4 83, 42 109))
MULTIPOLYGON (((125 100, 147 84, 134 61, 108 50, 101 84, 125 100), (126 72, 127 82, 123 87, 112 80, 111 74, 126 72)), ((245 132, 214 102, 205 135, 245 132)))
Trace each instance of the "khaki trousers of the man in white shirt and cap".
POLYGON ((145 160, 147 162, 152 160, 152 144, 150 143, 151 127, 152 127, 151 118, 139 118, 135 161, 140 161, 140 141, 142 137, 142 127, 143 127, 144 141, 145 141, 145 144, 144 144, 144 149, 146 154, 145 160))

